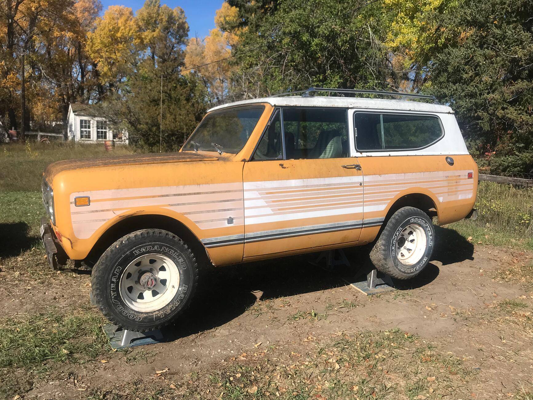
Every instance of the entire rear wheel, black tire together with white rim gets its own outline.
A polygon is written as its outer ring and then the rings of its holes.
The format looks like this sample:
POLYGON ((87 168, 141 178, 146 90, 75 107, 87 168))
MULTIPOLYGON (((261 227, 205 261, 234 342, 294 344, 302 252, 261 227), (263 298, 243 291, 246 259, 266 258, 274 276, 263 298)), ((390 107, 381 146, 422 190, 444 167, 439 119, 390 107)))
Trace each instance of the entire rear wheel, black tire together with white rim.
POLYGON ((384 274, 409 279, 430 261, 435 232, 430 217, 415 207, 402 207, 387 221, 370 259, 384 274))

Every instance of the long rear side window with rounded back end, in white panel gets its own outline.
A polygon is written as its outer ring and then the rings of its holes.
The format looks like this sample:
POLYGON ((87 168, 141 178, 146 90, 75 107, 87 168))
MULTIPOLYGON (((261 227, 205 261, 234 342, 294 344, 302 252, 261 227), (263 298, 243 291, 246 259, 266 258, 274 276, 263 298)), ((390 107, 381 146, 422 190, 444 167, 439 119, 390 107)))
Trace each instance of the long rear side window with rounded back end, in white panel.
POLYGON ((356 113, 354 118, 358 151, 419 149, 443 135, 432 115, 356 113))

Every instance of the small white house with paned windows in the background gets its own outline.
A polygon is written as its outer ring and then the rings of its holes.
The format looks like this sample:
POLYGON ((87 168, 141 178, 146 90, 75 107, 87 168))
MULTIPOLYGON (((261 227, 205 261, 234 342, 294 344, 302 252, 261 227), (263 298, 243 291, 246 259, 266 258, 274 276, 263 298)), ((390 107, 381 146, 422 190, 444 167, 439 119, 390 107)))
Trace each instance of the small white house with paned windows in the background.
POLYGON ((80 143, 98 143, 113 140, 128 143, 127 132, 113 132, 100 110, 91 104, 70 103, 67 116, 68 140, 80 143))

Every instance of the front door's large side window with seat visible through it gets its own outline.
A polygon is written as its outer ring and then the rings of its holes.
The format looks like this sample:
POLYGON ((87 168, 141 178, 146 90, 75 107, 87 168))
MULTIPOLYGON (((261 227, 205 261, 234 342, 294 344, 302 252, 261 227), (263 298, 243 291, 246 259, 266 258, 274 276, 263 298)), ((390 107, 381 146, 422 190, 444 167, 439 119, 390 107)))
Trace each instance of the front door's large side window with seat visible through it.
POLYGON ((345 109, 284 108, 283 129, 287 159, 348 156, 345 109))

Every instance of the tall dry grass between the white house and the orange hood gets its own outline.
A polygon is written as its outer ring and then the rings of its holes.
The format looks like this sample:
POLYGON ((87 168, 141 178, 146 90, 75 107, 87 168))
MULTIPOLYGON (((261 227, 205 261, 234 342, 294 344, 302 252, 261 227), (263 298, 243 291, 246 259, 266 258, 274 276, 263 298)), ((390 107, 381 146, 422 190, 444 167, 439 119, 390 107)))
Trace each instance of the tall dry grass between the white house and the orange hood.
POLYGON ((63 159, 108 157, 130 154, 128 146, 106 151, 103 143, 80 145, 70 142, 9 143, 0 146, 0 191, 40 191, 46 166, 63 159))

